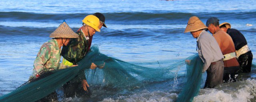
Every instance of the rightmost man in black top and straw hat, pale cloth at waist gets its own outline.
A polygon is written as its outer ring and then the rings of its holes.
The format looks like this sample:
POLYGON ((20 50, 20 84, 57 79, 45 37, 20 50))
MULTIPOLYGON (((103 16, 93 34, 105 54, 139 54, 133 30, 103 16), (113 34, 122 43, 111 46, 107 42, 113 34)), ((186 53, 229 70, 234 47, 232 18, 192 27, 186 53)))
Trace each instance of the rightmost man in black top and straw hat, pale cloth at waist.
POLYGON ((247 45, 244 35, 237 29, 231 29, 231 25, 227 22, 220 24, 220 29, 228 33, 234 42, 236 59, 240 65, 239 72, 250 73, 253 55, 247 45))

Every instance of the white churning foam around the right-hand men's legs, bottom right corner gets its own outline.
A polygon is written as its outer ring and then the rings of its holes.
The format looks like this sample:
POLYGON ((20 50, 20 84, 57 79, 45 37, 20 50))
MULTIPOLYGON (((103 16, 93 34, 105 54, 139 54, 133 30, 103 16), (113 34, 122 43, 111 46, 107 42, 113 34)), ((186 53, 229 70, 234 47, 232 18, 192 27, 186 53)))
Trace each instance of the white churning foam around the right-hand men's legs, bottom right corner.
POLYGON ((255 102, 255 98, 256 80, 248 79, 201 89, 194 102, 255 102))

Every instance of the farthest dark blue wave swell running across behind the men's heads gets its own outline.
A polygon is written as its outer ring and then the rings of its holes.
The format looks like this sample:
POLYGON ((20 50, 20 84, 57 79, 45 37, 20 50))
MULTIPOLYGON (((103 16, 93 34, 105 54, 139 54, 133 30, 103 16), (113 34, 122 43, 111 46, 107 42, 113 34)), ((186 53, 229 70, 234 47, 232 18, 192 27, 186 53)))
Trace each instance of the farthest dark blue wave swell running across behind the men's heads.
MULTIPOLYGON (((81 22, 81 20, 89 14, 42 14, 31 12, 0 12, 0 21, 16 21, 16 22, 59 22, 61 20, 71 20, 72 22, 81 22)), ((187 21, 191 16, 198 16, 200 19, 208 19, 211 16, 218 18, 235 18, 250 19, 256 18, 256 12, 201 12, 201 13, 185 13, 185 12, 120 12, 120 13, 104 13, 106 22, 111 24, 178 24, 181 21, 187 21), (241 16, 242 15, 242 16, 241 16), (172 21, 172 22, 170 22, 172 21)))

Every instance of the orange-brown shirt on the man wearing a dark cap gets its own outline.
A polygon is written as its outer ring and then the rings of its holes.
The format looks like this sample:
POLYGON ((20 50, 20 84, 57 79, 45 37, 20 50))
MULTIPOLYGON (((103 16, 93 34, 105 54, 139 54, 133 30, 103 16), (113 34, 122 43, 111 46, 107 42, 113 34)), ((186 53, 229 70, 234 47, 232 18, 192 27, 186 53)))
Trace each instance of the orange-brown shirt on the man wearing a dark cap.
MULTIPOLYGON (((213 37, 216 39, 217 43, 219 44, 220 50, 223 55, 236 51, 232 38, 225 31, 222 31, 219 29, 216 31, 216 33, 213 34, 213 37)), ((232 58, 224 61, 224 67, 233 67, 233 66, 239 66, 239 63, 236 60, 236 58, 232 58)))

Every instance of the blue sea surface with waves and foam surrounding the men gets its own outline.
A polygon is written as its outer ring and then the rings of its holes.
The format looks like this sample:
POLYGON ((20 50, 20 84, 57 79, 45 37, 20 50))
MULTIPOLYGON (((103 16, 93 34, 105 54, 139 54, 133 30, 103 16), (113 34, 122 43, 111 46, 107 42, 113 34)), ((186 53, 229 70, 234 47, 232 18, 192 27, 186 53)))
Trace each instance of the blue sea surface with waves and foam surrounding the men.
MULTIPOLYGON (((108 28, 96 32, 92 45, 98 45, 101 53, 145 67, 158 66, 148 64, 156 62, 166 67, 170 61, 197 54, 196 39, 183 33, 192 16, 204 24, 210 17, 230 23, 244 35, 256 55, 255 4, 256 0, 1 0, 0 96, 28 80, 41 45, 63 20, 76 31, 85 16, 100 12, 108 28)), ((255 57, 253 63, 256 64, 255 57)), ((239 82, 200 89, 194 101, 255 102, 255 72, 252 70, 250 78, 239 82)), ((157 87, 161 85, 100 101, 169 102, 178 95, 172 88, 157 87)))

